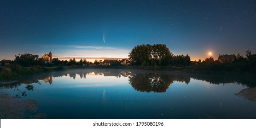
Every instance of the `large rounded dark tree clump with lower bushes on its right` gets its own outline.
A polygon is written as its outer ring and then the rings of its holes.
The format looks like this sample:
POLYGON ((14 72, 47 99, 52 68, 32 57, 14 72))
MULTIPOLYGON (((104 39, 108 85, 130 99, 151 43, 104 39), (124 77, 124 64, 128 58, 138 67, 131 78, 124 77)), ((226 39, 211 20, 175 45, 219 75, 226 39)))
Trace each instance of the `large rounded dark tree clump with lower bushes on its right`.
POLYGON ((141 66, 188 66, 191 64, 188 54, 175 56, 165 44, 137 45, 129 53, 129 60, 132 65, 141 66))

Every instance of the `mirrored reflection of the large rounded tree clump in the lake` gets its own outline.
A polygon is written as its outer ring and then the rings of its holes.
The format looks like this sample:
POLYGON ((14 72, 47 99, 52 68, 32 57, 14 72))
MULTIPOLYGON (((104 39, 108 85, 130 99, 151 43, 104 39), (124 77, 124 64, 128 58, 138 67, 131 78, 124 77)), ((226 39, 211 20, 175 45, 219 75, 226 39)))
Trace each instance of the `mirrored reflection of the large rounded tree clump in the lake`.
POLYGON ((128 78, 132 87, 141 92, 165 92, 174 81, 190 82, 190 77, 163 73, 133 73, 128 78))

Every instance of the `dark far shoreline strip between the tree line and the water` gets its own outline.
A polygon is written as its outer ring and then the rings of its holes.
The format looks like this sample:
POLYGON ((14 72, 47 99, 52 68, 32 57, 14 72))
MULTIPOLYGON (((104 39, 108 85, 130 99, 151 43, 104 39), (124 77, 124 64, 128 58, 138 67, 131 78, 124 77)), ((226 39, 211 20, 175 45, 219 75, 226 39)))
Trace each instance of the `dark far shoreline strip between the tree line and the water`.
POLYGON ((206 70, 203 66, 111 66, 111 65, 72 65, 72 66, 0 66, 0 81, 13 80, 15 78, 24 77, 28 75, 36 75, 40 73, 48 73, 52 71, 63 71, 69 69, 129 69, 129 70, 150 70, 150 71, 178 71, 189 74, 205 74, 205 75, 231 75, 231 76, 256 76, 256 73, 239 73, 236 71, 220 71, 220 70, 206 70), (201 68, 201 69, 200 69, 201 68))

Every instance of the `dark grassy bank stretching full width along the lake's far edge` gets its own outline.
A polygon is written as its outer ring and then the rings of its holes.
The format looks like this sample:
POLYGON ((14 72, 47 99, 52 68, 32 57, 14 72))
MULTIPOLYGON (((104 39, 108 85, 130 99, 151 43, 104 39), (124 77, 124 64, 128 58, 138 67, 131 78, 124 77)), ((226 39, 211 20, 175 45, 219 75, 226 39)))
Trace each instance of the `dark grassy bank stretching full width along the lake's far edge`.
POLYGON ((183 67, 153 67, 153 66, 111 66, 111 65, 73 65, 73 66, 31 66, 22 67, 20 65, 6 65, 0 66, 0 80, 9 80, 15 77, 34 75, 39 73, 65 70, 65 69, 140 69, 140 70, 164 70, 164 71, 183 71, 187 73, 200 73, 200 74, 212 74, 212 75, 246 75, 255 76, 256 72, 241 71, 233 66, 223 65, 195 65, 195 66, 183 66, 183 67))

